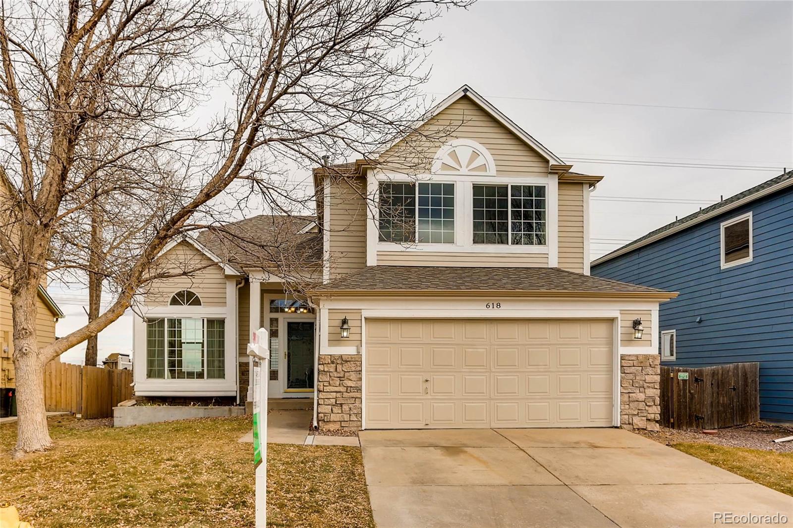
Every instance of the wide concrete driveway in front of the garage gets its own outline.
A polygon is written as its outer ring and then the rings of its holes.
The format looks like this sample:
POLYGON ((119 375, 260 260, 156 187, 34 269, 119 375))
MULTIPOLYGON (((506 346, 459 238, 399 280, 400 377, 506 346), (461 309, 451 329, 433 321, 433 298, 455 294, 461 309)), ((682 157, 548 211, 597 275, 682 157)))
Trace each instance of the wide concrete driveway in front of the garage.
POLYGON ((777 526, 793 526, 790 496, 626 430, 383 430, 360 438, 377 528, 699 528, 720 526, 717 512, 782 514, 787 524, 777 526))

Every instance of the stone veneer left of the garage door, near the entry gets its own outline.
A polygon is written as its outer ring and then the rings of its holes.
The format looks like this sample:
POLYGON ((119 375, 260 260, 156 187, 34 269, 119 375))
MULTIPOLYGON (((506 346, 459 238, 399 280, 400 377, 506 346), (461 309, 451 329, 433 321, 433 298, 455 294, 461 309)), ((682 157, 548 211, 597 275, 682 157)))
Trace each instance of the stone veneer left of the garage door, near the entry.
POLYGON ((320 429, 361 428, 361 356, 320 355, 317 376, 320 429))

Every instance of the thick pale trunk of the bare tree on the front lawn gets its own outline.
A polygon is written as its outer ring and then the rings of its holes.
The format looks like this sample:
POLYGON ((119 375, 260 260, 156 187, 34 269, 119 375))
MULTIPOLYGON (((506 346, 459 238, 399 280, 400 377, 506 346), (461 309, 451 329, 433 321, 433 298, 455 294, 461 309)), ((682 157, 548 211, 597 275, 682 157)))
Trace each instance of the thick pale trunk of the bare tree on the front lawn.
POLYGON ((44 407, 44 364, 36 343, 36 288, 13 285, 13 365, 17 371, 17 446, 14 457, 52 447, 44 407))

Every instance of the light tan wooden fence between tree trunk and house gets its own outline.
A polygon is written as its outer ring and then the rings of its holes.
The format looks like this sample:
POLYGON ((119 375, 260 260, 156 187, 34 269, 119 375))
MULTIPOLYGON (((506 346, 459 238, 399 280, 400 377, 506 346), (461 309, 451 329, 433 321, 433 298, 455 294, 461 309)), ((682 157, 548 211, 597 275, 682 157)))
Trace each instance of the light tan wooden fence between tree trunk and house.
POLYGON ((132 370, 49 362, 44 367, 44 404, 47 411, 109 418, 113 407, 132 398, 130 384, 132 370))

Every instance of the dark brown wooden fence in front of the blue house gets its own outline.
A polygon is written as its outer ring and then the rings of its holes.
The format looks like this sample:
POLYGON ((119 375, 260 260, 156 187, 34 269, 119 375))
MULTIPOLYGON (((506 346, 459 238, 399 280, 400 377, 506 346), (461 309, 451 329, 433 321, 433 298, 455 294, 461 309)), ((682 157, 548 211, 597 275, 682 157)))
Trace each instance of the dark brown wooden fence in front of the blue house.
POLYGON ((760 420, 760 363, 661 366, 661 425, 714 429, 760 420))

